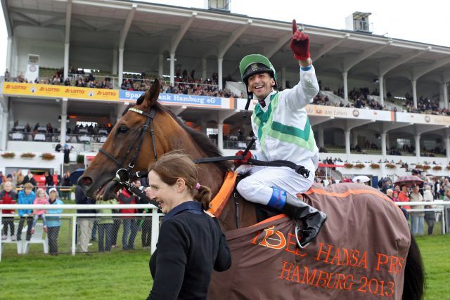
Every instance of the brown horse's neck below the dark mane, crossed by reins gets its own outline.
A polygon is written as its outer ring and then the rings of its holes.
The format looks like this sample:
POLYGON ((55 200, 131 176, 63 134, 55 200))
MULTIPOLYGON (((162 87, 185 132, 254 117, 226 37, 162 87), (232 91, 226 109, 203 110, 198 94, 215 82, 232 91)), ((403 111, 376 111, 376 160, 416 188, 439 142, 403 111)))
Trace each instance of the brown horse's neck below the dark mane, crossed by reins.
MULTIPOLYGON (((169 143, 170 150, 183 150, 194 159, 207 157, 205 152, 193 143, 191 136, 186 131, 180 129, 180 132, 173 136, 174 138, 169 143)), ((214 163, 199 164, 198 166, 198 182, 200 185, 209 187, 213 197, 219 192, 224 177, 224 172, 214 163)))

